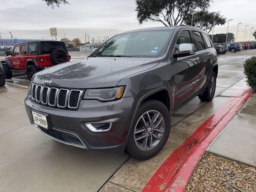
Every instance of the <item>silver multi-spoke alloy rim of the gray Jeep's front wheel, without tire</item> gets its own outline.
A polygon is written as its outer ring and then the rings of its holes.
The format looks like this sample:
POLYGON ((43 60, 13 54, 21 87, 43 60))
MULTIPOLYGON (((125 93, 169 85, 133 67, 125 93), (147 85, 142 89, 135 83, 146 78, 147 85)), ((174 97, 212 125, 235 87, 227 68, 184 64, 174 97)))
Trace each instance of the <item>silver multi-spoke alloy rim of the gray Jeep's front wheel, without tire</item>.
POLYGON ((134 140, 141 150, 156 147, 164 135, 164 118, 156 110, 150 110, 140 116, 134 131, 134 140))

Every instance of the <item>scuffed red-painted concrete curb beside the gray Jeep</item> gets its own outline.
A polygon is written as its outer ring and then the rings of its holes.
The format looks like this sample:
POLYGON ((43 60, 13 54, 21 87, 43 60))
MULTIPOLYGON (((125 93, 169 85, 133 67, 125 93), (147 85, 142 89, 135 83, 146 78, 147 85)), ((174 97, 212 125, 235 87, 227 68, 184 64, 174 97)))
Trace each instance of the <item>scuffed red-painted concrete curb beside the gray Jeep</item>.
POLYGON ((252 95, 248 89, 231 98, 187 138, 158 168, 142 192, 183 192, 210 143, 252 95))

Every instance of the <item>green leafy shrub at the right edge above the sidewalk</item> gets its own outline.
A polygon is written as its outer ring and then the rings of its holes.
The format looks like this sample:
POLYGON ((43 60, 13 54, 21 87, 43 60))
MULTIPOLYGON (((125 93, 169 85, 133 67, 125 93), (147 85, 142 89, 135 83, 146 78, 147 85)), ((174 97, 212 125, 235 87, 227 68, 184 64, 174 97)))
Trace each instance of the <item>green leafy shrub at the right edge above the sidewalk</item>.
POLYGON ((247 84, 256 90, 256 56, 246 59, 244 63, 244 74, 247 84))

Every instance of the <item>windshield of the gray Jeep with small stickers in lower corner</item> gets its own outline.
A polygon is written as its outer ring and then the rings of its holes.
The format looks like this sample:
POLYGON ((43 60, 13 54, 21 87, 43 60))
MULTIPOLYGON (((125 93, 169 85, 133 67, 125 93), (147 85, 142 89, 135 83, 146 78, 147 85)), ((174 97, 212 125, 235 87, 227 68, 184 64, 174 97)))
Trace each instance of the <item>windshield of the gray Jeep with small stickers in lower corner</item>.
POLYGON ((160 57, 172 33, 173 30, 156 30, 116 35, 90 57, 160 57))

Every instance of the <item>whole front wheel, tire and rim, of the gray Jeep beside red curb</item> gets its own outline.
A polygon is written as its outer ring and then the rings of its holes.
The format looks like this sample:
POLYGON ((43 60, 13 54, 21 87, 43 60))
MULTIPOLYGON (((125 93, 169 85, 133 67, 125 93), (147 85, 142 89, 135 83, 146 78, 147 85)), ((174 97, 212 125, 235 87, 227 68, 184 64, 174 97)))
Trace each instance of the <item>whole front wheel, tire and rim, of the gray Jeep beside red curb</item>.
POLYGON ((138 160, 152 158, 166 144, 170 126, 170 113, 162 102, 144 102, 134 118, 126 146, 128 154, 138 160))

